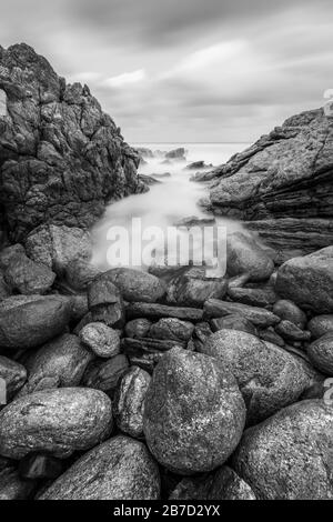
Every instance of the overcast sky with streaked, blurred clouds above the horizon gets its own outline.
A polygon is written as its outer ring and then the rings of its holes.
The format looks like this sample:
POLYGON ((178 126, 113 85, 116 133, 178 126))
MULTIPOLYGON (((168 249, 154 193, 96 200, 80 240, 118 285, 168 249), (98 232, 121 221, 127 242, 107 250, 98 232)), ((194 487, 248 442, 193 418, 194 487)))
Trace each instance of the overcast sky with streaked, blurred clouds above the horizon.
POLYGON ((129 142, 252 142, 333 88, 332 0, 0 0, 129 142))

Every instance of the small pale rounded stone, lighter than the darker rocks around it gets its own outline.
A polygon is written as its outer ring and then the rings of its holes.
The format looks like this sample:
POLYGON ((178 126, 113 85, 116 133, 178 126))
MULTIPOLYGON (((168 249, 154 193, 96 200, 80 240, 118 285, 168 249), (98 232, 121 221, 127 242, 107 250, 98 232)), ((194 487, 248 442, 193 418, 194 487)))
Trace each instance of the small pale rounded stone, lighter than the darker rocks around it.
POLYGON ((83 327, 80 339, 100 358, 109 359, 120 352, 119 332, 102 322, 93 322, 83 327))

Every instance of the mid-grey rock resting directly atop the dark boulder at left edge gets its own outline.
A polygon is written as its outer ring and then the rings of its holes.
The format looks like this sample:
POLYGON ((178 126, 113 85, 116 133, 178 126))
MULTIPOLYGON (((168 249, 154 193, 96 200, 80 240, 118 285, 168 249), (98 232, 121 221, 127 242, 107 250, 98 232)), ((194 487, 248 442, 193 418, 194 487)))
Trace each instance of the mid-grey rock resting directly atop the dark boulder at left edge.
POLYGON ((31 261, 26 255, 16 258, 4 272, 4 281, 16 293, 24 295, 43 294, 56 279, 48 267, 31 261))

